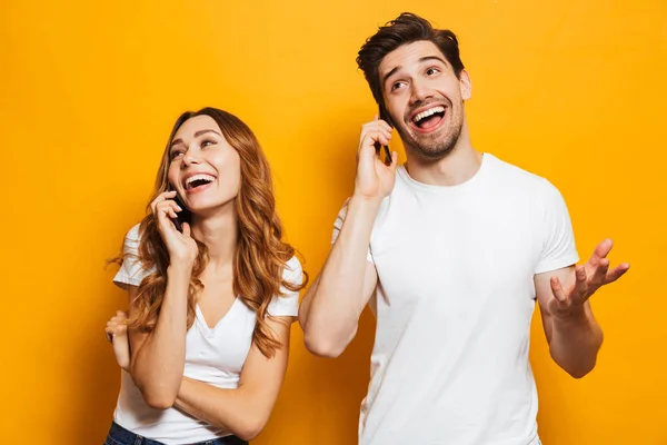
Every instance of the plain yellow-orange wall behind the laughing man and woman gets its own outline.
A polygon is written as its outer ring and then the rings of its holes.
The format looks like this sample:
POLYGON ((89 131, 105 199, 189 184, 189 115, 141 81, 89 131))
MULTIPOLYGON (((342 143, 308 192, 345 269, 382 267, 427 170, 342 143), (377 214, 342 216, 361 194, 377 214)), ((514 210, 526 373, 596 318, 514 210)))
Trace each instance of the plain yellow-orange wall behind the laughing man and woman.
MULTIPOLYGON (((559 187, 583 258, 613 237, 614 263, 633 265, 593 299, 606 340, 585 379, 550 362, 536 317, 542 442, 667 444, 665 0, 2 1, 1 443, 103 442, 119 370, 102 329, 127 305, 103 264, 181 111, 223 108, 256 131, 289 240, 319 271, 375 111, 356 52, 402 10, 458 33, 474 145, 559 187)), ((295 325, 256 444, 355 443, 361 322, 337 360, 295 325)))

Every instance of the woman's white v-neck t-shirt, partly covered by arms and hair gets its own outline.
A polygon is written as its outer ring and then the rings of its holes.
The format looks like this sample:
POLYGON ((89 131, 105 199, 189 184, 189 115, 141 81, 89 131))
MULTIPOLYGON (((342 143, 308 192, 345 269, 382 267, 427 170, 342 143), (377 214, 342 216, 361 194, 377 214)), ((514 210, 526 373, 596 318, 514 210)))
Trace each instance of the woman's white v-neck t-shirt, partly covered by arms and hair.
MULTIPOLYGON (((139 226, 132 227, 125 240, 125 253, 137 255, 139 226)), ((139 286, 152 270, 142 268, 136 257, 126 257, 113 283, 122 288, 139 286)), ((299 260, 292 257, 282 273, 282 278, 301 284, 302 270, 299 260)), ((299 293, 281 288, 281 296, 269 304, 270 316, 297 316, 299 293)), ((186 335, 186 367, 183 375, 219 388, 237 388, 246 357, 252 345, 256 313, 237 298, 229 312, 210 328, 197 306, 195 324, 186 335)), ((122 372, 120 394, 113 413, 113 422, 140 436, 167 445, 203 442, 228 436, 229 431, 211 426, 177 409, 155 409, 146 404, 132 377, 122 372)))

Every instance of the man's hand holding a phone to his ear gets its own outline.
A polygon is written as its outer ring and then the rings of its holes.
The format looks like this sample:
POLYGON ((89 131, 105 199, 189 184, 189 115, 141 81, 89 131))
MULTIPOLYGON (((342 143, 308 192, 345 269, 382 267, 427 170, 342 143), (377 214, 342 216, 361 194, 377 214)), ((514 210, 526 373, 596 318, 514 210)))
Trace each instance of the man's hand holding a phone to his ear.
POLYGON ((355 195, 364 198, 382 199, 394 189, 398 154, 391 152, 391 162, 386 165, 376 150, 376 142, 386 146, 391 140, 391 127, 376 118, 361 127, 357 151, 357 178, 355 195))

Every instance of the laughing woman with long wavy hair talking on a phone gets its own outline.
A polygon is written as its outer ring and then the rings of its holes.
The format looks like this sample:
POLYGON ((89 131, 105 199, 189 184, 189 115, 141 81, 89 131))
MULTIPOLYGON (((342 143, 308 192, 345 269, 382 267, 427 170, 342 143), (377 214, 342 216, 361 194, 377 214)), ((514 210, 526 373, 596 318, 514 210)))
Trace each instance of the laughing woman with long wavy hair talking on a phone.
MULTIPOLYGON (((131 359, 107 444, 246 444, 278 396, 307 280, 252 131, 218 109, 183 113, 150 210, 115 278, 130 297, 131 359)), ((121 365, 122 318, 107 329, 121 365)))

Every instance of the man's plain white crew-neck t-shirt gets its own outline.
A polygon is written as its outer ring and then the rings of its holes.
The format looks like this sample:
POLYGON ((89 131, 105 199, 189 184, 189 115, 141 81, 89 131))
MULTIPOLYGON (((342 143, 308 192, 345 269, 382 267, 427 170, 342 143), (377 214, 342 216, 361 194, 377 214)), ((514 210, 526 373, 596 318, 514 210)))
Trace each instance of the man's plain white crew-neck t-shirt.
POLYGON ((559 191, 489 154, 452 187, 400 166, 368 259, 377 329, 359 444, 539 444, 534 276, 579 259, 559 191))

